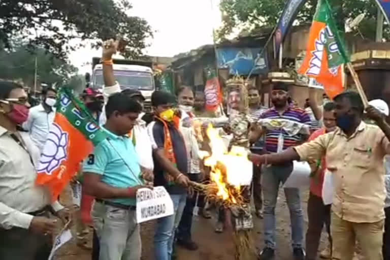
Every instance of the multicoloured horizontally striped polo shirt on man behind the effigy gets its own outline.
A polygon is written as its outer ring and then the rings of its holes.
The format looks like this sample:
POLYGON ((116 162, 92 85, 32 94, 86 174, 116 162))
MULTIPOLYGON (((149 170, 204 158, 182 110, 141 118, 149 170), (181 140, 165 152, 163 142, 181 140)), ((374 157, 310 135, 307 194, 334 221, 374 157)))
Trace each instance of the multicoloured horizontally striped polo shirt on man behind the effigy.
MULTIPOLYGON (((261 116, 261 119, 284 119, 290 120, 294 122, 304 123, 310 125, 311 120, 309 115, 305 110, 295 107, 289 106, 283 114, 279 114, 279 112, 275 108, 270 108, 265 111, 261 116)), ((289 136, 283 129, 276 129, 273 131, 268 131, 266 134, 266 150, 268 152, 277 152, 278 150, 278 139, 279 135, 282 133, 283 135, 283 150, 298 145, 302 140, 302 135, 294 135, 289 136)))

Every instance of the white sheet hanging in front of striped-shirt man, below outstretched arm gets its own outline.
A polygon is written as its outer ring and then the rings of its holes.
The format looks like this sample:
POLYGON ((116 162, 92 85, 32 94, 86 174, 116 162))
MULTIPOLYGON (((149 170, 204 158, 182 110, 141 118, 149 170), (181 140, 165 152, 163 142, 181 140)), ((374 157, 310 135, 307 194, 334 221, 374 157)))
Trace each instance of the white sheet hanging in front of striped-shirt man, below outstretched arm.
POLYGON ((294 168, 284 182, 284 188, 301 188, 310 185, 311 168, 307 161, 294 161, 294 168))

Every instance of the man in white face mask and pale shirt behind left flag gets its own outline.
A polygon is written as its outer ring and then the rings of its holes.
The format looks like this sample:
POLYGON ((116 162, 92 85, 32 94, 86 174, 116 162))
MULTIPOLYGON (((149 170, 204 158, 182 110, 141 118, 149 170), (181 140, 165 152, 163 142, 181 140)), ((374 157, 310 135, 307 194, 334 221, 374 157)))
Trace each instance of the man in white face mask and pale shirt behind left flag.
POLYGON ((32 142, 42 151, 50 126, 54 121, 57 91, 53 88, 42 90, 43 102, 30 109, 28 119, 22 127, 30 133, 32 142))

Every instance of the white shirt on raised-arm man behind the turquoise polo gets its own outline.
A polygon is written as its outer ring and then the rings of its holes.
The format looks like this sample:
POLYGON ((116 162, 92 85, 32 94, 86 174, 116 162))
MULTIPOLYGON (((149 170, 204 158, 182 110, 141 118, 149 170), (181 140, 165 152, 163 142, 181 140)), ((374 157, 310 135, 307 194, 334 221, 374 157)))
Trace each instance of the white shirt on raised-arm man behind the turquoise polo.
MULTIPOLYGON (((105 106, 107 104, 109 96, 114 93, 118 93, 120 91, 121 89, 118 83, 111 87, 104 87, 103 96, 104 96, 105 106)), ((104 125, 107 121, 105 106, 103 107, 102 114, 100 115, 99 118, 100 125, 104 125)), ((148 135, 146 122, 141 119, 143 115, 144 113, 140 113, 137 119, 137 124, 134 125, 133 127, 131 138, 132 140, 133 138, 135 138, 135 143, 136 143, 135 148, 140 159, 140 165, 146 169, 153 170, 154 164, 153 164, 153 155, 152 155, 153 153, 152 143, 148 135)))

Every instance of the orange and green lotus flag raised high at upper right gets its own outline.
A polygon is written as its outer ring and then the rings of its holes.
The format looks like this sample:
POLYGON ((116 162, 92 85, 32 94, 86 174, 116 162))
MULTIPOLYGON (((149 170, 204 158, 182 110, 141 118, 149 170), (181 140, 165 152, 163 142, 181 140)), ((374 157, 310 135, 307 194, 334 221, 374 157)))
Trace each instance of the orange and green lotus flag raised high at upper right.
POLYGON ((319 0, 310 28, 306 56, 298 71, 315 78, 333 99, 344 90, 344 66, 347 53, 339 36, 327 0, 319 0))

